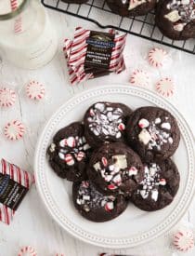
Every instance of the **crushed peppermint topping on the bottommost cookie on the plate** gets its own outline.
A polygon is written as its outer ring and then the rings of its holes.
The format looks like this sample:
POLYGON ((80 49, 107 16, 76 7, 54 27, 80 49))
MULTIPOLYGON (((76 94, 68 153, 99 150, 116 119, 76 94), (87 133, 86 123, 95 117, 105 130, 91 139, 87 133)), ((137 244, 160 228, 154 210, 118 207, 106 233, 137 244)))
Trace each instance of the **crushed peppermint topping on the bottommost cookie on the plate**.
POLYGON ((116 197, 113 195, 102 195, 90 182, 84 181, 80 184, 76 203, 82 206, 86 212, 97 208, 104 208, 106 211, 111 211, 114 209, 115 200, 116 197))

